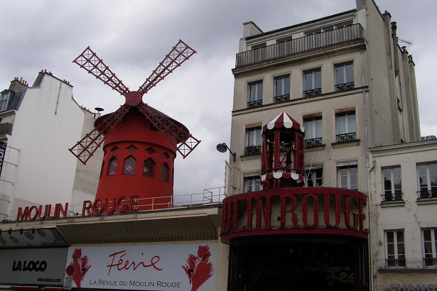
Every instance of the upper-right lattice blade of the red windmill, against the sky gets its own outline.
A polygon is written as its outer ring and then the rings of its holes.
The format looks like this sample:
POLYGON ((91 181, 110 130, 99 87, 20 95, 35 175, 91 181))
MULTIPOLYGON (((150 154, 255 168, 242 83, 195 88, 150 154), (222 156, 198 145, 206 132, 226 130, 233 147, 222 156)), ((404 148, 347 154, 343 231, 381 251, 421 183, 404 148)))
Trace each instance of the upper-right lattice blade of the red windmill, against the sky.
POLYGON ((197 53, 193 48, 190 48, 182 40, 173 47, 173 49, 166 55, 164 60, 159 63, 158 67, 151 73, 151 75, 146 79, 139 87, 139 92, 141 94, 146 94, 150 89, 161 82, 168 74, 176 70, 177 67, 183 64, 185 60, 188 60, 192 55, 197 53))

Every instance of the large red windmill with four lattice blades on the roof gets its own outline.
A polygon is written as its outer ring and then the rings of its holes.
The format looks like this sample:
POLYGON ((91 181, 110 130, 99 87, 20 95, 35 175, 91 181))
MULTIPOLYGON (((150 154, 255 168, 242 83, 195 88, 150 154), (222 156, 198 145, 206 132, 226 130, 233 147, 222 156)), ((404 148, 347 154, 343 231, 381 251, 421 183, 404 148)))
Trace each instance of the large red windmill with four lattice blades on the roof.
POLYGON ((171 202, 176 151, 186 158, 200 141, 182 123, 145 104, 142 97, 195 53, 179 40, 138 91, 130 91, 90 47, 73 61, 126 97, 117 111, 100 116, 95 128, 70 148, 85 164, 104 142, 96 199, 163 197, 153 202, 161 203, 157 208, 171 202))

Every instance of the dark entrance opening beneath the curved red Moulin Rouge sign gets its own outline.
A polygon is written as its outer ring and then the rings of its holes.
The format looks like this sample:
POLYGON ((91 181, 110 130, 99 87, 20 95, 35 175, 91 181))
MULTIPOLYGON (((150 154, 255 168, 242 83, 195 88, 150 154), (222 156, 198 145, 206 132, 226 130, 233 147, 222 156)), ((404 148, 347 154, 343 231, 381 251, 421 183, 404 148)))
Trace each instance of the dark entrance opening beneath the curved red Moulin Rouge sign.
POLYGON ((234 239, 230 291, 365 291, 367 241, 336 236, 234 239))

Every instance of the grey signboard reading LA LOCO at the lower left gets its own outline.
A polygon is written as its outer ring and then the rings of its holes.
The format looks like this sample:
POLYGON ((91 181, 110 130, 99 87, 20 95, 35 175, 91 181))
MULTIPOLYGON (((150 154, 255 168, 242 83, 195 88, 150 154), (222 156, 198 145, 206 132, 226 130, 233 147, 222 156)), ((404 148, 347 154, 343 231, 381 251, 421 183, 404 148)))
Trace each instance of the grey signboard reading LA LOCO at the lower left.
POLYGON ((63 285, 68 248, 0 250, 0 284, 63 285))

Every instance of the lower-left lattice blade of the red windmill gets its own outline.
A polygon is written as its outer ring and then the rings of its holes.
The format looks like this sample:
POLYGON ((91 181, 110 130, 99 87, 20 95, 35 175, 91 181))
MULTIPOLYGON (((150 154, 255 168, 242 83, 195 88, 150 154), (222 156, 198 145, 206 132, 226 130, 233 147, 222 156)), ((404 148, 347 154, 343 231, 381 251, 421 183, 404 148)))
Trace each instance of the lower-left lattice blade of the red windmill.
POLYGON ((86 165, 97 148, 102 145, 105 136, 122 120, 123 116, 129 111, 129 108, 129 105, 124 104, 106 119, 102 119, 102 122, 97 127, 87 133, 75 146, 68 150, 86 165))

